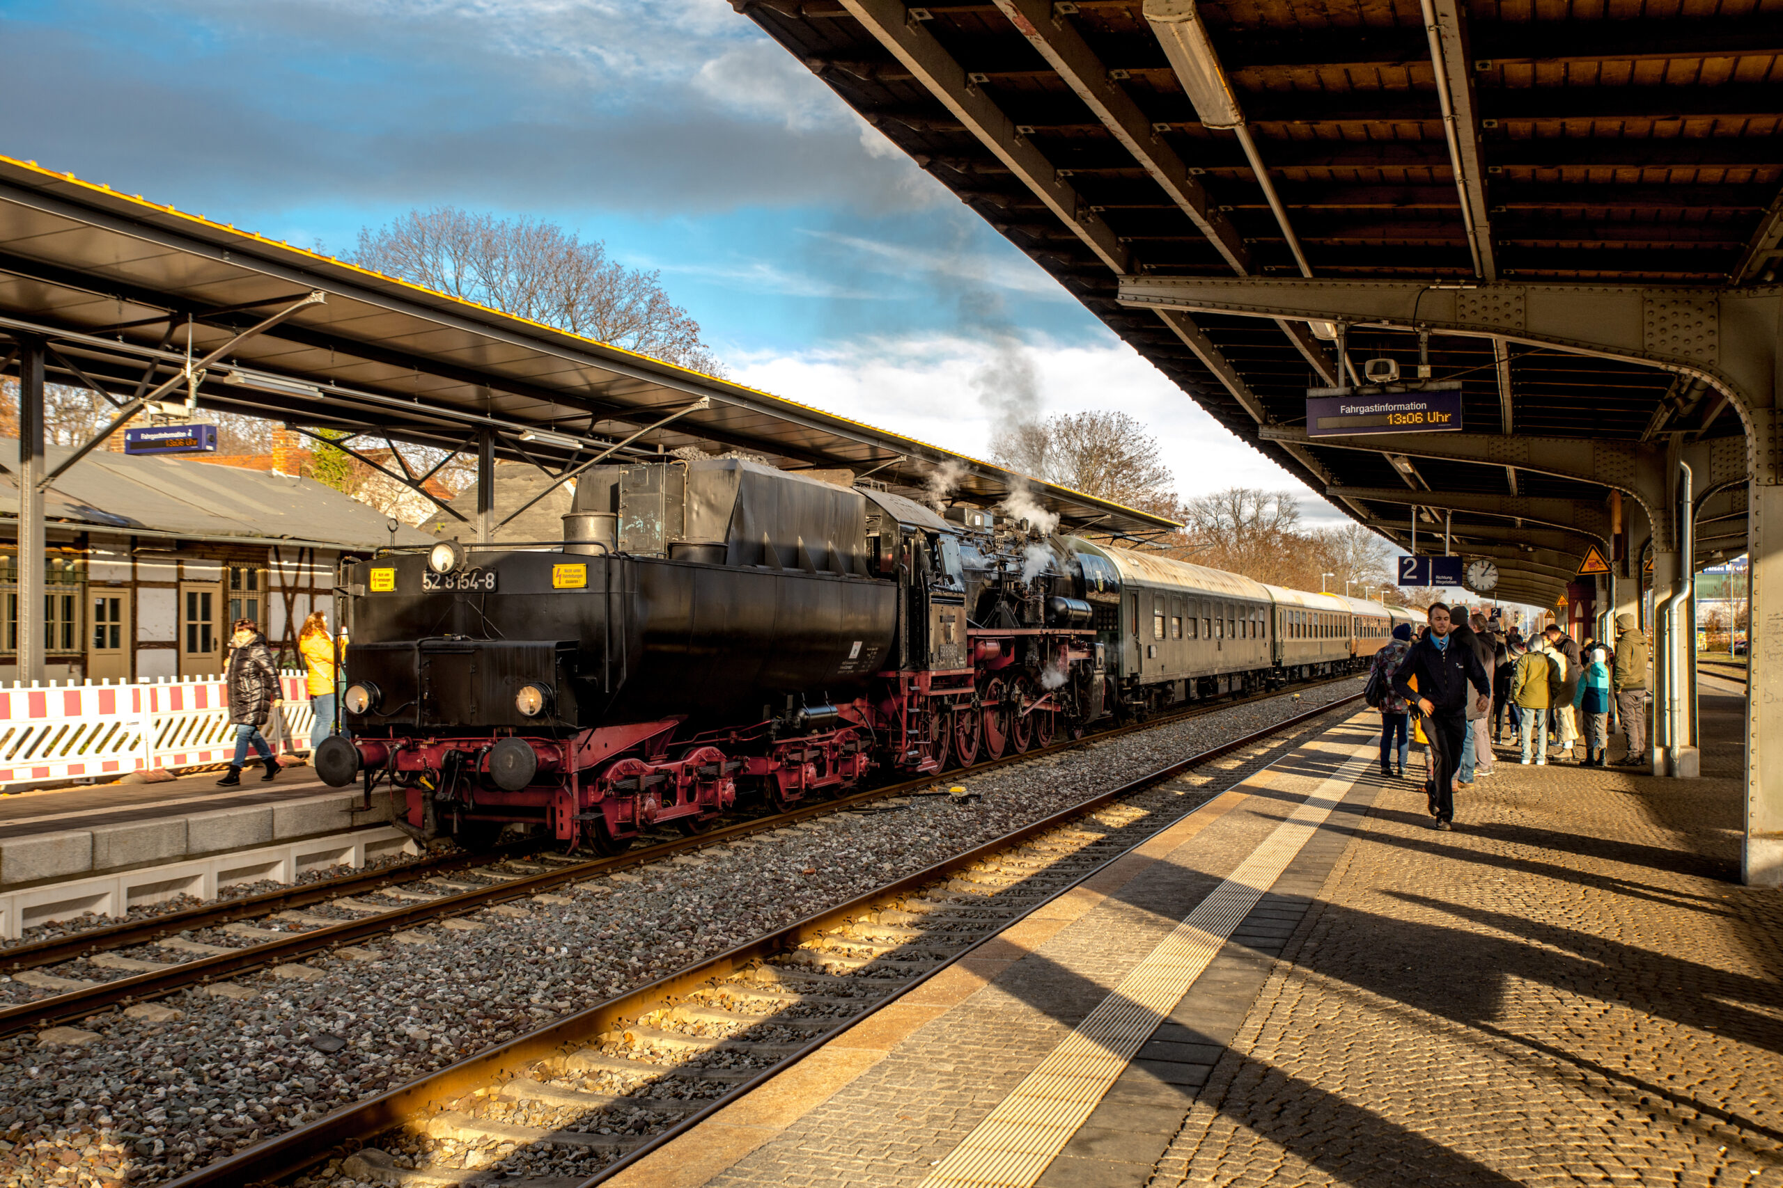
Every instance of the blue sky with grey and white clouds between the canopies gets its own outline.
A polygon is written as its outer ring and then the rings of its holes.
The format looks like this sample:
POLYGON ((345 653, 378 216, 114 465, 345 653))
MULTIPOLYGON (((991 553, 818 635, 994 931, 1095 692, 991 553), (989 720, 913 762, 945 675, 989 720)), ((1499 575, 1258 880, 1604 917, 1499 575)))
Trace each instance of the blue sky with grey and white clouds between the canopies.
POLYGON ((979 456, 1011 404, 1122 408, 1184 495, 1337 522, 726 0, 0 0, 0 153, 332 253, 412 207, 551 219, 745 383, 979 456))

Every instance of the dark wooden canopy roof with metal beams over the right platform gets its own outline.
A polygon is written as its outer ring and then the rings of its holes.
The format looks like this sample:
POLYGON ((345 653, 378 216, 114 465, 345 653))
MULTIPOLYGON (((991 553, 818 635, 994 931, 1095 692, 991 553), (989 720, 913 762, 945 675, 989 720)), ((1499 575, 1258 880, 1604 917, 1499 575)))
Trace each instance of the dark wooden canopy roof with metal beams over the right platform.
MULTIPOLYGON (((733 4, 1214 419, 1401 547, 1451 525, 1507 597, 1564 597, 1614 515, 1589 467, 1512 440, 1642 467, 1726 442, 1744 479, 1712 385, 1532 340, 1549 297, 1589 328, 1592 303, 1621 317, 1603 294, 1639 290, 1665 330, 1774 281, 1783 12, 733 4), (1469 440, 1309 438, 1307 390, 1339 385, 1337 313, 1352 367, 1391 356, 1416 378, 1423 349, 1458 381, 1469 440)), ((1705 506, 1696 561, 1744 549, 1740 486, 1705 506)))

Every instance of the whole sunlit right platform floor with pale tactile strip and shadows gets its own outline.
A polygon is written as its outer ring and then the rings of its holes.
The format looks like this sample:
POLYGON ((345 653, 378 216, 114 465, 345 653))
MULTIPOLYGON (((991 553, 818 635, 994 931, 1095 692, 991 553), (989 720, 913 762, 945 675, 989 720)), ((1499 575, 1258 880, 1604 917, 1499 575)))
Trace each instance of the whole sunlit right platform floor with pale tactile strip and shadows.
POLYGON ((610 1183, 1783 1184, 1730 691, 1705 778, 1505 750, 1455 832, 1359 712, 610 1183))

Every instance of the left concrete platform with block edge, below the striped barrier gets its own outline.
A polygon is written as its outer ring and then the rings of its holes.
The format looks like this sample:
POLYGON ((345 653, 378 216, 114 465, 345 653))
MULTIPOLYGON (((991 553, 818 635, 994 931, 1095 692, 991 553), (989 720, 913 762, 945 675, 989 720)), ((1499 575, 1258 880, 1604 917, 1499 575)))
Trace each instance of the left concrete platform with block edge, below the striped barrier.
POLYGON ((0 894, 50 882, 387 825, 387 796, 332 789, 310 768, 218 787, 218 773, 0 796, 0 894))

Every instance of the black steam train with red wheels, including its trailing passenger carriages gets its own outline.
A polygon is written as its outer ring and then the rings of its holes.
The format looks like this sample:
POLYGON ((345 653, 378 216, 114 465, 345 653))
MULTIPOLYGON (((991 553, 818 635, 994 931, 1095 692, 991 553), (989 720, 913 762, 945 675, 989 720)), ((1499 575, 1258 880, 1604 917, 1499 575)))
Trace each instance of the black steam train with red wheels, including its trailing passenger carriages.
POLYGON ((615 853, 1168 705, 1366 664, 1396 614, 742 460, 588 470, 563 541, 380 552, 332 785, 421 841, 615 853))

